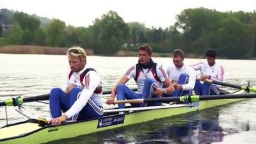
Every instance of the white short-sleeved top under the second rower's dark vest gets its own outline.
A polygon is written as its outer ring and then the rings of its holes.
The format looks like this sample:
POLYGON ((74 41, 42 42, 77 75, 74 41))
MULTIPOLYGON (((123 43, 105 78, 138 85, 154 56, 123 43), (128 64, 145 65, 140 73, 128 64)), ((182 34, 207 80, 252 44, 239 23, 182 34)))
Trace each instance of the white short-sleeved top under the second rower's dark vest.
MULTIPOLYGON (((152 72, 152 69, 153 68, 150 68, 150 70, 148 70, 148 68, 142 68, 142 70, 140 72, 140 75, 138 76, 138 79, 136 81, 139 94, 141 94, 142 91, 143 91, 144 81, 147 77, 152 78, 152 79, 156 79, 154 77, 154 75, 156 76, 156 74, 153 74, 154 72, 152 72)), ((158 79, 160 80, 160 81, 156 81, 156 84, 159 88, 162 88, 163 87, 163 82, 168 79, 168 76, 166 75, 166 72, 164 71, 164 68, 159 66, 159 65, 156 65, 156 73, 157 73, 158 79)), ((125 72, 124 76, 127 77, 128 79, 131 79, 132 77, 135 77, 136 76, 136 65, 129 68, 127 70, 127 72, 125 72)))

